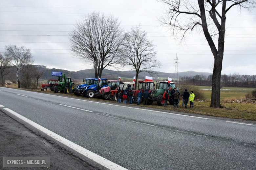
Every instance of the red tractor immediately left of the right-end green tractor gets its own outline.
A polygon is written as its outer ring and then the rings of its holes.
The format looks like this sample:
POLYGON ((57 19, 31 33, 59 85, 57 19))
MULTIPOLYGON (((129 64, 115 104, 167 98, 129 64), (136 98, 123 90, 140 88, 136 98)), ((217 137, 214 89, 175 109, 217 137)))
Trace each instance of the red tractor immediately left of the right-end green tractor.
MULTIPOLYGON (((151 91, 154 89, 155 89, 155 84, 153 81, 139 81, 138 89, 133 90, 133 97, 135 98, 135 103, 138 104, 139 91, 144 93, 145 90, 148 90, 148 92, 151 93, 151 91)), ((151 95, 149 95, 148 104, 152 104, 152 103, 153 103, 153 98, 151 98, 151 95)))

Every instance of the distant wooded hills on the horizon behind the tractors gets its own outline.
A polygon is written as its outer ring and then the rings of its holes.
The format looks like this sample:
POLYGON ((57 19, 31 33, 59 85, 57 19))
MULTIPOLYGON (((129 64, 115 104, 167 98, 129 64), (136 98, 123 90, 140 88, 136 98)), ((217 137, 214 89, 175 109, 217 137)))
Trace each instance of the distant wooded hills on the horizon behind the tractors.
MULTIPOLYGON (((53 79, 55 77, 52 76, 52 72, 62 72, 65 73, 66 76, 72 77, 72 79, 83 79, 83 78, 94 78, 94 69, 86 69, 86 70, 80 70, 80 71, 68 71, 68 70, 62 70, 62 69, 45 69, 45 72, 41 79, 53 79)), ((126 77, 126 78, 133 78, 135 76, 136 71, 114 71, 114 70, 108 70, 104 69, 102 72, 101 78, 113 78, 118 79, 118 76, 126 77)), ((196 76, 196 75, 203 75, 203 76, 209 76, 211 73, 204 73, 204 72, 195 72, 195 71, 187 71, 187 72, 180 72, 179 76, 196 76)), ((147 72, 141 72, 139 74, 138 79, 144 79, 145 76, 150 76, 147 72)), ((157 77, 174 77, 174 73, 164 73, 164 72, 156 72, 155 75, 153 75, 154 78, 157 77)))

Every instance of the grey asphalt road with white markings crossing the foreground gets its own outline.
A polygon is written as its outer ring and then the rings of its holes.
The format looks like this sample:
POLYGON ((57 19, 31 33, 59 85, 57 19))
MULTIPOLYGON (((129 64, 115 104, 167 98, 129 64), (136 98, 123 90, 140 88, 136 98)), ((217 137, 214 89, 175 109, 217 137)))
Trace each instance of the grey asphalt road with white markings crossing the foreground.
POLYGON ((0 105, 127 169, 256 169, 253 123, 0 90, 0 105))

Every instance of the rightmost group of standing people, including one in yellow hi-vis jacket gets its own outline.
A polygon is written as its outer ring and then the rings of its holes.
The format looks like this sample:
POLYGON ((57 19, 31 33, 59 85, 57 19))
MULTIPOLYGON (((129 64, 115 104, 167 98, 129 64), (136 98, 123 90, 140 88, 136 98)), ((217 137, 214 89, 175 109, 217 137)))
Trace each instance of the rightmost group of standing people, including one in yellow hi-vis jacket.
MULTIPOLYGON (((179 102, 180 102, 180 96, 181 93, 175 88, 173 88, 173 90, 171 91, 171 97, 172 97, 172 105, 174 106, 174 108, 179 108, 179 102)), ((167 101, 169 101, 169 95, 166 91, 164 91, 163 93, 163 98, 164 98, 164 107, 167 107, 167 101)), ((188 93, 187 89, 185 89, 185 91, 182 94, 182 107, 185 105, 185 108, 187 108, 187 103, 189 100, 189 104, 190 104, 190 108, 194 108, 194 98, 195 98, 195 94, 193 91, 190 92, 190 94, 188 93)), ((171 103, 171 102, 170 102, 171 103)))

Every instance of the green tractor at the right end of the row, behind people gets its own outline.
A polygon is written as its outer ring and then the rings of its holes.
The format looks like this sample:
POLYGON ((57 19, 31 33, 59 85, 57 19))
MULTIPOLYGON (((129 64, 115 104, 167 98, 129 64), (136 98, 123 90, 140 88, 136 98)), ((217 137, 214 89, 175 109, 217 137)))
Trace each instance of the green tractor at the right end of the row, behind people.
POLYGON ((171 104, 171 91, 174 87, 174 82, 168 83, 168 81, 159 81, 158 89, 152 90, 150 93, 150 97, 153 98, 153 101, 156 101, 159 106, 162 106, 164 104, 163 93, 166 90, 170 98, 169 103, 171 104))

